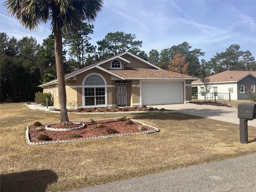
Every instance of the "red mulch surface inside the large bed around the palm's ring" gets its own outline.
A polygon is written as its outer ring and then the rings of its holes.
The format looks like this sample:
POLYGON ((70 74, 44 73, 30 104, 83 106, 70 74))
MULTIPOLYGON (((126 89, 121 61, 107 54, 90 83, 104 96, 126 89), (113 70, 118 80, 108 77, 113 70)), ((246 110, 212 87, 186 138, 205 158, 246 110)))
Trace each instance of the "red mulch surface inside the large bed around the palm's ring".
POLYGON ((150 131, 153 130, 151 127, 145 126, 146 130, 139 131, 138 126, 141 125, 140 123, 134 122, 131 125, 127 125, 126 121, 117 121, 115 119, 106 119, 96 123, 89 123, 89 122, 82 122, 87 127, 82 130, 74 130, 74 131, 48 131, 45 130, 45 125, 42 125, 44 130, 43 131, 36 131, 39 126, 31 125, 29 126, 29 137, 31 142, 38 142, 39 140, 37 137, 41 134, 46 134, 51 138, 51 141, 57 140, 68 140, 68 139, 81 139, 81 138, 90 138, 90 137, 98 137, 103 135, 111 135, 107 133, 107 130, 115 129, 117 133, 115 134, 124 134, 124 133, 137 133, 143 131, 150 131), (103 128, 96 128, 98 123, 103 124, 105 127, 103 128), (80 134, 81 137, 74 138, 74 134, 80 134))

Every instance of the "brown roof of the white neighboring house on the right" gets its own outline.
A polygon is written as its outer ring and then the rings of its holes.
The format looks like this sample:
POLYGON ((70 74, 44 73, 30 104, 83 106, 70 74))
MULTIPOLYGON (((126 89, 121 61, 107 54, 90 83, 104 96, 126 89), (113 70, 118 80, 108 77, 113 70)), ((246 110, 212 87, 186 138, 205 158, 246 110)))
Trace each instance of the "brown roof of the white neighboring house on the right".
MULTIPOLYGON (((209 78, 210 78, 210 82, 237 82, 249 74, 252 74, 256 77, 256 71, 227 70, 222 73, 211 75, 211 76, 209 76, 209 78)), ((197 81, 192 82, 192 84, 195 84, 195 83, 202 83, 202 81, 199 79, 197 81)))

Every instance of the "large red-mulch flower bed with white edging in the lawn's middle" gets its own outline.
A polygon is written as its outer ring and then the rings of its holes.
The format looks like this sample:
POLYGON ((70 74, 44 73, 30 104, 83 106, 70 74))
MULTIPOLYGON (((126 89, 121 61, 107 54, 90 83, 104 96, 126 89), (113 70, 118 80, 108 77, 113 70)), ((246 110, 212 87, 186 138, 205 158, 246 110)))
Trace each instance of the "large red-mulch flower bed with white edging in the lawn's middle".
MULTIPOLYGON (((84 121, 84 129, 69 131, 50 131, 45 129, 45 125, 27 127, 27 141, 29 145, 40 145, 54 143, 55 141, 70 142, 75 140, 92 140, 109 137, 120 137, 125 135, 145 134, 159 131, 156 127, 147 125, 134 119, 115 118, 101 119, 98 121, 84 121), (131 123, 132 121, 132 123, 131 123), (42 135, 47 137, 42 137, 42 135), (42 140, 42 138, 47 138, 42 140), (47 141, 46 141, 47 140, 47 141)), ((69 127, 70 128, 70 127, 69 127)))

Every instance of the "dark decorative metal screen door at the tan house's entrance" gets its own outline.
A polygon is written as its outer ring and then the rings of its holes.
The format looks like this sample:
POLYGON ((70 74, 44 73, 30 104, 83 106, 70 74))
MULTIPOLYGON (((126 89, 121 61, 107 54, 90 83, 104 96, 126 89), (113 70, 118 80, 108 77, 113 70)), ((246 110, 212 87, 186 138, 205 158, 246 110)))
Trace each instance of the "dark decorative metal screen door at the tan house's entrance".
POLYGON ((116 105, 129 105, 128 95, 128 81, 116 81, 116 105))

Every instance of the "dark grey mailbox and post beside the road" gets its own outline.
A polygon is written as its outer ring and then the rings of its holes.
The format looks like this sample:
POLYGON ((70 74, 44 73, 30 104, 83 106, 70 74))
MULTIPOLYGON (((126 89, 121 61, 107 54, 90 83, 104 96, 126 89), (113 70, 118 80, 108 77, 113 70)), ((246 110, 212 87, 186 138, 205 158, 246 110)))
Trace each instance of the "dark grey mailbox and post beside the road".
POLYGON ((248 142, 248 121, 256 119, 256 104, 255 103, 239 103, 238 104, 240 142, 248 142))

